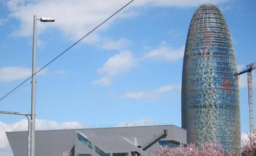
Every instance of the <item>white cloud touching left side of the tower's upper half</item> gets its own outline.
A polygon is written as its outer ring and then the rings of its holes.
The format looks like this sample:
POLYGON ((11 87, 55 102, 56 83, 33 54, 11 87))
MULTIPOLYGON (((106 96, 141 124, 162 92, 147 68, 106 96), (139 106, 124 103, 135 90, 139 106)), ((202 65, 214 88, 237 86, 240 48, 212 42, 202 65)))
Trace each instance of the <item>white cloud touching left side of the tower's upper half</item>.
POLYGON ((159 48, 145 53, 144 58, 158 61, 176 61, 183 58, 184 50, 185 46, 179 49, 173 49, 171 46, 162 43, 159 48))

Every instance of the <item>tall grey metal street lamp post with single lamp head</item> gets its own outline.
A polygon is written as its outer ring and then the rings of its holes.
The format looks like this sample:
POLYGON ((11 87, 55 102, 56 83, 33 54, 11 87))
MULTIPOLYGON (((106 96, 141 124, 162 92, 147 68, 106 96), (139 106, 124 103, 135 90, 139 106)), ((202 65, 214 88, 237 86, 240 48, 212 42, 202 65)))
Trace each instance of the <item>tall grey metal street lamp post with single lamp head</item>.
POLYGON ((34 15, 33 22, 33 55, 32 55, 32 89, 31 89, 31 139, 30 139, 30 154, 34 156, 34 148, 35 148, 35 125, 36 125, 36 56, 37 56, 37 20, 41 22, 54 22, 55 20, 52 18, 40 18, 37 19, 37 16, 34 15))

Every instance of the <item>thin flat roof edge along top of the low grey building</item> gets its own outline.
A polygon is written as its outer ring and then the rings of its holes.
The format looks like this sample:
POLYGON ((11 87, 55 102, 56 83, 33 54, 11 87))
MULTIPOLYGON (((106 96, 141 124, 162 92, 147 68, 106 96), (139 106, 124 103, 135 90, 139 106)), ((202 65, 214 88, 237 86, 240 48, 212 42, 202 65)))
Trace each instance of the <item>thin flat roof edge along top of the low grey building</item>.
MULTIPOLYGON (((127 127, 102 127, 102 128, 75 128, 75 129, 45 129, 45 130, 36 130, 36 132, 43 132, 43 131, 76 131, 80 129, 109 129, 109 128, 130 128, 130 127, 159 127, 159 126, 174 126, 180 129, 183 129, 186 131, 186 129, 176 126, 176 125, 149 125, 149 126, 127 126, 127 127)), ((13 132, 28 132, 28 131, 10 131, 10 132, 5 132, 5 133, 13 133, 13 132)))

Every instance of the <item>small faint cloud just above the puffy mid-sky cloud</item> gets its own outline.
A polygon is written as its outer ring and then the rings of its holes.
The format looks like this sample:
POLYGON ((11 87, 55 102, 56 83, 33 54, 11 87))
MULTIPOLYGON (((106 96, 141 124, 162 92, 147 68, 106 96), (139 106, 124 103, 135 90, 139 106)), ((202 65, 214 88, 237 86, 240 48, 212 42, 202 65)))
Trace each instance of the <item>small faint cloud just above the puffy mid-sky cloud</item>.
POLYGON ((102 48, 104 49, 125 49, 128 45, 131 44, 130 40, 127 40, 126 38, 121 38, 117 41, 113 41, 110 39, 105 39, 102 43, 102 48))

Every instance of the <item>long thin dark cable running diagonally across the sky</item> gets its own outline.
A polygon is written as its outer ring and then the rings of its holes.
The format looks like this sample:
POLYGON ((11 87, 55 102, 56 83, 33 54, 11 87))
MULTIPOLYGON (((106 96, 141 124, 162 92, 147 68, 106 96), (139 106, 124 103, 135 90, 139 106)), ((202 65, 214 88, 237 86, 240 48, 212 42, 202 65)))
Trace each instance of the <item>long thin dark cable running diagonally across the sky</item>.
POLYGON ((104 20, 103 22, 101 22, 97 27, 95 27, 94 29, 92 29, 90 32, 88 32, 84 37, 80 38, 80 40, 78 40, 77 42, 75 42, 73 45, 71 45, 70 47, 68 47, 66 50, 64 50, 61 54, 59 54, 58 56, 56 56, 54 59, 52 59, 49 63, 45 64, 41 69, 39 69, 36 73, 34 73, 33 75, 31 75, 30 77, 28 77, 28 79, 26 79, 24 82, 22 82, 21 84, 19 84, 17 87, 15 87, 13 90, 11 90, 9 93, 7 93, 5 96, 3 96, 1 100, 3 100, 5 97, 7 97, 9 94, 11 94, 12 92, 14 92, 14 90, 16 90, 18 87, 20 87, 22 84, 24 84, 25 82, 27 82, 31 77, 33 77, 34 75, 36 75, 37 73, 39 73, 41 70, 43 70, 45 67, 49 66, 49 64, 51 64, 53 61, 55 61, 57 58, 59 58, 60 56, 62 56, 64 53, 67 52, 67 50, 71 49, 73 46, 75 46, 78 42, 82 41, 86 36, 88 36, 90 33, 94 32, 96 29, 98 29, 102 24, 104 24, 105 22, 107 22, 109 19, 111 19, 113 16, 115 16, 116 14, 118 14, 118 12, 120 12, 123 8, 125 8, 127 5, 129 5, 130 3, 132 3, 134 0, 130 1, 129 3, 127 3, 126 5, 124 5, 121 9, 119 9, 118 11, 116 11, 113 15, 111 15, 109 18, 107 18, 106 20, 104 20))

